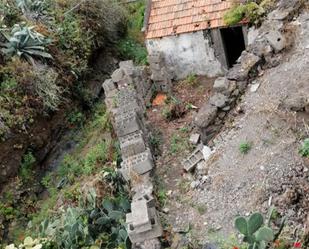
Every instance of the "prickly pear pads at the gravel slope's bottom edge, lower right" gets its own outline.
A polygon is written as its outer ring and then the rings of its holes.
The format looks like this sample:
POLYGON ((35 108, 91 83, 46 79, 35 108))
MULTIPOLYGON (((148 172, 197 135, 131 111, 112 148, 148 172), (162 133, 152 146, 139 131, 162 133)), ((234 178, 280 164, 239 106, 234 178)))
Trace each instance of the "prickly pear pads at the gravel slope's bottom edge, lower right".
POLYGON ((248 243, 249 249, 265 249, 275 238, 273 230, 264 226, 264 218, 260 213, 254 213, 248 219, 237 217, 235 227, 244 235, 243 240, 248 243))

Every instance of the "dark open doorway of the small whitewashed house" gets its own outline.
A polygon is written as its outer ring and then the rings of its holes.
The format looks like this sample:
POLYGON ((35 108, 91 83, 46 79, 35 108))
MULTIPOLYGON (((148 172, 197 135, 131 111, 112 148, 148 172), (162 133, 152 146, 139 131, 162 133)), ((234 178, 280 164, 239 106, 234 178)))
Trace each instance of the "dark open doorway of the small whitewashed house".
POLYGON ((228 67, 232 67, 246 49, 242 27, 220 29, 228 67))

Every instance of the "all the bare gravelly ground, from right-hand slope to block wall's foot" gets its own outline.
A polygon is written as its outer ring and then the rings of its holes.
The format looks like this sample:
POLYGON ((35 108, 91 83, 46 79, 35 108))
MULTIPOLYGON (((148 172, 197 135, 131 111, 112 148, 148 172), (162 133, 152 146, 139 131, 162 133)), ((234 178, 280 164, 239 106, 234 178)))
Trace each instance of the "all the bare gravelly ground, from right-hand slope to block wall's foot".
MULTIPOLYGON (((192 235, 191 241, 208 241, 214 233, 226 237, 235 233, 235 216, 266 214, 272 205, 287 217, 286 229, 303 230, 309 211, 309 164, 298 150, 309 136, 308 10, 286 30, 292 31, 293 42, 287 41, 290 46, 271 60, 271 67, 259 69, 221 132, 208 143, 215 152, 206 172, 197 176, 181 171, 188 152, 174 157, 163 152, 159 157, 157 173, 167 193, 162 213, 171 231, 192 235), (239 151, 243 142, 251 145, 247 154, 239 151)), ((159 128, 166 135, 175 123, 159 128)))

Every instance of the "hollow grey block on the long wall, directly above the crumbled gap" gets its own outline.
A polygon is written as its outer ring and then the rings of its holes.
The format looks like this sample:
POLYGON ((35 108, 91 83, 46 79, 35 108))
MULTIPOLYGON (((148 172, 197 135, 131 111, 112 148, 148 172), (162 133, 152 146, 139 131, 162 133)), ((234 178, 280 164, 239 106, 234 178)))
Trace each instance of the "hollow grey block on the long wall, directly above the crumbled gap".
POLYGON ((125 158, 121 163, 122 170, 125 170, 126 175, 131 175, 131 171, 139 175, 143 175, 153 169, 152 155, 149 150, 146 150, 137 155, 125 158))

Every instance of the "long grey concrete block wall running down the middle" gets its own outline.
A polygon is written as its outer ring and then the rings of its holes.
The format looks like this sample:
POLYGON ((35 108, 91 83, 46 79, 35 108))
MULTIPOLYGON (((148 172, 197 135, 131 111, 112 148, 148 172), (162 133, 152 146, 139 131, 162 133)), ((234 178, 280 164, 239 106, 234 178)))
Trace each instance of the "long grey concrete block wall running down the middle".
MULTIPOLYGON (((159 58, 156 58, 160 64, 159 58)), ((160 71, 160 70, 159 70, 160 71)), ((155 76, 162 88, 170 86, 165 71, 155 76), (167 79, 167 78, 165 78, 167 79)), ((119 63, 111 79, 103 83, 105 103, 113 117, 113 126, 120 142, 122 163, 119 171, 130 182, 133 193, 131 210, 126 216, 127 231, 134 248, 159 249, 162 226, 153 198, 152 171, 154 160, 147 143, 144 111, 152 97, 153 84, 145 67, 132 61, 119 63)))

